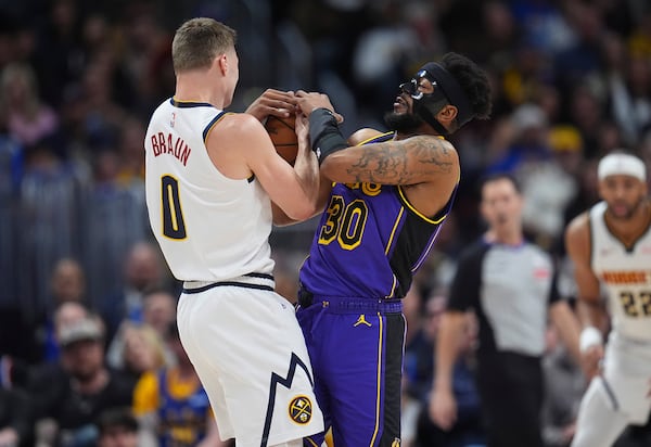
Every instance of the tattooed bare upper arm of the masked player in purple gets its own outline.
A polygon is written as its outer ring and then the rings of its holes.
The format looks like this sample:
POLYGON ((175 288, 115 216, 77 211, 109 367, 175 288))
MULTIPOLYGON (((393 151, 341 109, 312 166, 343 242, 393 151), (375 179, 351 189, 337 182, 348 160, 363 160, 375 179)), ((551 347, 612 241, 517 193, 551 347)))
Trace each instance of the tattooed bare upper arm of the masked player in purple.
POLYGON ((434 216, 459 181, 459 156, 449 141, 434 136, 366 144, 337 151, 321 175, 340 183, 399 184, 423 215, 434 216))

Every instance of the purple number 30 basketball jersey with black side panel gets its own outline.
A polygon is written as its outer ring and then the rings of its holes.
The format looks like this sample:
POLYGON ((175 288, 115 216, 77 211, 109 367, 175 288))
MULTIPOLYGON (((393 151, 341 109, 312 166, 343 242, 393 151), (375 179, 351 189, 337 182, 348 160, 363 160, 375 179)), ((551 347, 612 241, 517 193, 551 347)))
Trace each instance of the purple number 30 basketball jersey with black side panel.
POLYGON ((318 296, 401 298, 454 196, 427 218, 413 209, 400 187, 336 183, 301 269, 302 286, 318 296))

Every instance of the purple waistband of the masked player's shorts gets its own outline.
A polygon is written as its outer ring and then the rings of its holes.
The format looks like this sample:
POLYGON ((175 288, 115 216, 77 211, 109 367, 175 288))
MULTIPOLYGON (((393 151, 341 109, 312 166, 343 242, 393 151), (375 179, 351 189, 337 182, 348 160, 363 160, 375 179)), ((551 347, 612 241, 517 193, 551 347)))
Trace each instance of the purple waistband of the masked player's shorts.
POLYGON ((318 305, 332 314, 398 314, 403 311, 403 301, 400 298, 382 299, 363 296, 319 296, 314 295, 305 289, 298 291, 298 305, 303 308, 318 305))

